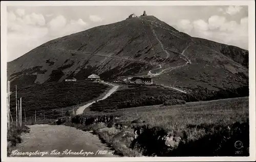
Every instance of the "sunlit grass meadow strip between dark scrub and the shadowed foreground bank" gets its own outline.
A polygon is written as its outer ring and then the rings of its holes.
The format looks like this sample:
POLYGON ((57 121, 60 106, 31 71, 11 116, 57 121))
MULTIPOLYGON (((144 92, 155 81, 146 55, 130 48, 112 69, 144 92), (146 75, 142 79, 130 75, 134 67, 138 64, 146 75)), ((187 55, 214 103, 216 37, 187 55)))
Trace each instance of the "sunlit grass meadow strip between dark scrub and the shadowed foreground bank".
POLYGON ((190 102, 175 106, 145 106, 120 109, 120 121, 137 118, 151 127, 161 126, 166 130, 183 130, 185 125, 231 124, 246 121, 249 117, 248 98, 223 99, 215 101, 190 102))

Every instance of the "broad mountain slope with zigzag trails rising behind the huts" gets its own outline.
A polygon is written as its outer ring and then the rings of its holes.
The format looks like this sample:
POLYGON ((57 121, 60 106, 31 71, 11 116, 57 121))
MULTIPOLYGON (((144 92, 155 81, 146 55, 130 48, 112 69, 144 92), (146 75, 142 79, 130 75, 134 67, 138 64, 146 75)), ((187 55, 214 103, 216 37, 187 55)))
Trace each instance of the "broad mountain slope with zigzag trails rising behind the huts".
POLYGON ((105 80, 150 76, 188 89, 238 87, 248 85, 248 51, 141 16, 51 40, 8 62, 13 83, 82 80, 92 73, 105 80))

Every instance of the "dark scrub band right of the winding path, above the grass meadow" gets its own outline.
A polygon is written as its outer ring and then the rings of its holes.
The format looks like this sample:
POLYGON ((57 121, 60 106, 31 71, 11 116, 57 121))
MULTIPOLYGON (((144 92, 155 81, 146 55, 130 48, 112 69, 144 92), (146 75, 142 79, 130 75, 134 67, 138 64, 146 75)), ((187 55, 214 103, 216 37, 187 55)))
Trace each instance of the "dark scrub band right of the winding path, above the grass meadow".
POLYGON ((183 94, 168 88, 150 86, 134 86, 121 89, 105 100, 98 101, 90 107, 92 111, 112 112, 117 109, 150 106, 159 104, 180 104, 184 102, 210 101, 218 99, 249 96, 249 87, 222 89, 210 91, 206 88, 193 89, 189 94, 183 94), (180 100, 182 102, 180 102, 180 100), (178 101, 177 103, 174 101, 178 101))

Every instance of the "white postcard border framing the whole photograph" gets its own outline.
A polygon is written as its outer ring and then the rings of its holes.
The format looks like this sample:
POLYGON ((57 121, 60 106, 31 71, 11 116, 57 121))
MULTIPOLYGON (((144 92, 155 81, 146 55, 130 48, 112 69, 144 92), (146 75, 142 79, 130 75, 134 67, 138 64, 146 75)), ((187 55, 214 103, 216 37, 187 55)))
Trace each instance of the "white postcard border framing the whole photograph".
MULTIPOLYGON (((1 156, 2 161, 71 161, 73 157, 7 157, 7 6, 248 6, 249 25, 249 157, 75 157, 76 161, 255 161, 255 2, 254 1, 31 1, 1 2, 1 156), (5 109, 4 109, 5 107, 5 109)), ((209 146, 210 147, 210 146, 209 146)))

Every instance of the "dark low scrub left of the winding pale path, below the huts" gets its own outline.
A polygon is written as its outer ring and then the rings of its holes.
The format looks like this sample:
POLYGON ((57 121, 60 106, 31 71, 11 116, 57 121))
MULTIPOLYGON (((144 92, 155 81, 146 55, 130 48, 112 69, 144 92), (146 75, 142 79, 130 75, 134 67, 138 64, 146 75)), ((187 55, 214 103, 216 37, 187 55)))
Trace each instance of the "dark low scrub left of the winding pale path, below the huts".
MULTIPOLYGON (((23 115, 27 121, 34 121, 35 110, 37 120, 56 119, 67 113, 66 107, 72 107, 99 97, 108 88, 105 84, 79 81, 43 83, 33 85, 17 85, 17 98, 22 97, 23 115), (62 109, 63 108, 63 109, 62 109)), ((15 119, 15 85, 11 85, 10 108, 15 119)), ((72 109, 72 108, 70 108, 72 109)), ((24 120, 24 117, 23 117, 24 120)))

